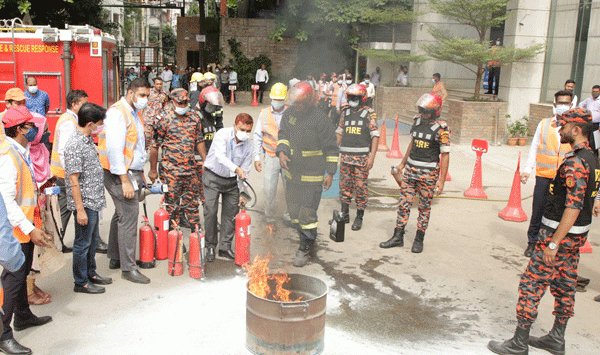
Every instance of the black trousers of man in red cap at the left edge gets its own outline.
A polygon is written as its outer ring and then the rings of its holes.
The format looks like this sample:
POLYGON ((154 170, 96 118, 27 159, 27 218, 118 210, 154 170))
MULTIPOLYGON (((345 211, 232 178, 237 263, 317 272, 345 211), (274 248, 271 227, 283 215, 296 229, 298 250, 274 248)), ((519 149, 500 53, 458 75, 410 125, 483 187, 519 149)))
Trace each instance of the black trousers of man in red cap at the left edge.
POLYGON ((2 271, 2 287, 4 287, 2 324, 4 325, 4 332, 0 336, 0 341, 13 338, 12 328, 10 327, 13 314, 19 320, 34 317, 31 309, 29 309, 29 302, 27 302, 27 275, 31 271, 31 263, 33 262, 33 243, 21 243, 21 250, 25 254, 23 266, 15 272, 6 269, 2 271))

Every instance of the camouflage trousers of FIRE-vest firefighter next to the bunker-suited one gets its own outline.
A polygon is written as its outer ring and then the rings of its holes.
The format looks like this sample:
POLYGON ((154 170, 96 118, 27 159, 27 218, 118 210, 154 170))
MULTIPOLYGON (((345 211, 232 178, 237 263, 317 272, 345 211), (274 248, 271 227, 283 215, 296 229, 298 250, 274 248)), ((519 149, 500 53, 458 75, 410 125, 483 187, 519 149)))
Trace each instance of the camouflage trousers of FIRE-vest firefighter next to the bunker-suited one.
POLYGON ((357 209, 364 210, 367 208, 367 201, 369 200, 368 178, 369 170, 367 169, 366 158, 364 164, 355 165, 342 162, 340 165, 341 202, 351 204, 352 196, 354 196, 357 209))

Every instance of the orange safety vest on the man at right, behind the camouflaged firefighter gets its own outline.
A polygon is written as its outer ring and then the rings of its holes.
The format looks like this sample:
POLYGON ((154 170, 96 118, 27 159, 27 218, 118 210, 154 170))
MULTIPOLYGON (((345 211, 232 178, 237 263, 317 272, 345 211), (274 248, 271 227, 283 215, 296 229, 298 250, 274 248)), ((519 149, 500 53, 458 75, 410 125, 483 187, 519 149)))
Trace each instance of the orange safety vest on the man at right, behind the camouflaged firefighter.
POLYGON ((540 122, 540 141, 535 156, 535 174, 549 179, 554 179, 565 154, 571 150, 571 145, 560 144, 555 129, 551 118, 540 122))

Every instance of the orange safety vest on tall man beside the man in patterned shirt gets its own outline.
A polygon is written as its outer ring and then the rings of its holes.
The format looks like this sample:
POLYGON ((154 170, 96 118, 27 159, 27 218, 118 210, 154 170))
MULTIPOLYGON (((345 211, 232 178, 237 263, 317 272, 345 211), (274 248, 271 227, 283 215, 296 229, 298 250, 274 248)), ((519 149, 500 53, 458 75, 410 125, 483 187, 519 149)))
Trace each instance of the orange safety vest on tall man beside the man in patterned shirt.
MULTIPOLYGON (((110 108, 119 110, 121 113, 121 119, 125 120, 127 133, 125 134, 125 147, 123 148, 123 155, 125 156, 125 169, 129 170, 129 166, 133 161, 133 151, 135 150, 135 145, 137 144, 137 127, 135 126, 135 118, 131 114, 131 108, 125 99, 115 102, 110 108)), ((141 117, 140 120, 142 120, 141 117)), ((143 124, 144 122, 142 120, 142 125, 143 124)), ((100 165, 102 165, 102 168, 110 170, 110 162, 108 160, 108 153, 106 151, 106 129, 103 129, 98 136, 98 155, 100 157, 100 165)))

